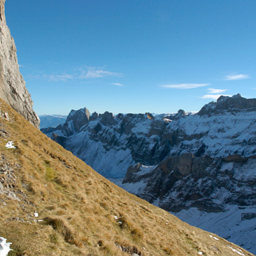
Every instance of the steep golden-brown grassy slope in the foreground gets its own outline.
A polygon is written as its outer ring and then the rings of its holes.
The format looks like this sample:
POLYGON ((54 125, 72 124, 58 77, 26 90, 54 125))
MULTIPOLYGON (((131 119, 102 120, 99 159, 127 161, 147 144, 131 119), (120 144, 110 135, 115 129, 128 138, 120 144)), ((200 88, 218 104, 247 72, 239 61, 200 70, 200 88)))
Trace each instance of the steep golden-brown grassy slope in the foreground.
POLYGON ((0 151, 9 255, 252 255, 115 186, 1 100, 0 151))

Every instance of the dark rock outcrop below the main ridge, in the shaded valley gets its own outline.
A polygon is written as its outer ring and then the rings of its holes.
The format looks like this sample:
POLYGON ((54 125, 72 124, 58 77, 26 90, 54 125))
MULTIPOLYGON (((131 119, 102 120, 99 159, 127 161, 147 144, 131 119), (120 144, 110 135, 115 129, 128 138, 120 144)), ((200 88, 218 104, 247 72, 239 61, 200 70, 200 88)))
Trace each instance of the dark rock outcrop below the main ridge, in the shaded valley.
POLYGON ((137 196, 150 203, 158 200, 161 208, 174 213, 191 207, 217 213, 224 211, 227 204, 254 205, 255 164, 255 156, 234 156, 227 161, 187 153, 170 156, 154 169, 141 164, 130 166, 122 183, 136 186, 143 181, 137 196))

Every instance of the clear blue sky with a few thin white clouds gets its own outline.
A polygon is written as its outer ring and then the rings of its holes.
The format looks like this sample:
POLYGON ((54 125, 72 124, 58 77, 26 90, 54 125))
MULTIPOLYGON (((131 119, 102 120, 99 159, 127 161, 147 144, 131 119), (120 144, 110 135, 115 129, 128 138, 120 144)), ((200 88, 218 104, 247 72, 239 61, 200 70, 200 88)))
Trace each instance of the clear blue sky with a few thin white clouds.
POLYGON ((160 114, 256 97, 255 14, 255 0, 6 0, 38 114, 160 114))

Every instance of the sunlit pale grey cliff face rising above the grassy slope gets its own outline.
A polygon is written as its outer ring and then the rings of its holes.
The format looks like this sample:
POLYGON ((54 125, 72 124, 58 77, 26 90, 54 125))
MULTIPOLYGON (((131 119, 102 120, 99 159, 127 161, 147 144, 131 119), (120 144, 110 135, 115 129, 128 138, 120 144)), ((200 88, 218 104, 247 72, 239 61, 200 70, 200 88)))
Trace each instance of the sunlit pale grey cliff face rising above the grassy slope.
POLYGON ((4 3, 5 0, 0 0, 0 97, 38 128, 40 119, 33 111, 31 95, 18 69, 16 46, 6 25, 4 3))

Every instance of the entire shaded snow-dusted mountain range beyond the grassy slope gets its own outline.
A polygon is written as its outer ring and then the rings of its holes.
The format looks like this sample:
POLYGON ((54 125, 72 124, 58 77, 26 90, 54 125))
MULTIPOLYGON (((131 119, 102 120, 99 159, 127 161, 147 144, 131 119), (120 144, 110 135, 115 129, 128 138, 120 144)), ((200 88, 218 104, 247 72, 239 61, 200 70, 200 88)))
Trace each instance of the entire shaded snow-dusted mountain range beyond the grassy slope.
POLYGON ((43 132, 127 191, 256 253, 255 121, 256 99, 235 95, 196 114, 73 110, 43 132))

